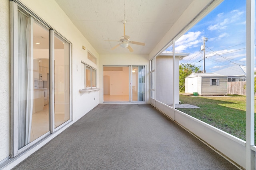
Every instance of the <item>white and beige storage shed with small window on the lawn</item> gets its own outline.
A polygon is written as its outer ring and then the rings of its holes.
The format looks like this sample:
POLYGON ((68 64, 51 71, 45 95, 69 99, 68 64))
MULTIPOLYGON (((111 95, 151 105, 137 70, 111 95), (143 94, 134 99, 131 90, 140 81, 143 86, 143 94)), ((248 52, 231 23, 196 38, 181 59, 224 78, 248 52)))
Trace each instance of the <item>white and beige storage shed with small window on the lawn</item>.
POLYGON ((185 78, 185 93, 200 96, 227 95, 227 76, 216 73, 192 73, 185 78))

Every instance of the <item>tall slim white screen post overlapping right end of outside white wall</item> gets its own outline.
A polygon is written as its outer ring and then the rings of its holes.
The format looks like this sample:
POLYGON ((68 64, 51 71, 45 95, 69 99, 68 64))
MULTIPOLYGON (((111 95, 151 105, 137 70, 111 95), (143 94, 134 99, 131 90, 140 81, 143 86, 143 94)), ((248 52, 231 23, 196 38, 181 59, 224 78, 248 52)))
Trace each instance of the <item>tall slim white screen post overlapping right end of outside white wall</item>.
POLYGON ((176 72, 175 72, 175 39, 172 39, 172 119, 175 121, 175 83, 176 83, 176 72))

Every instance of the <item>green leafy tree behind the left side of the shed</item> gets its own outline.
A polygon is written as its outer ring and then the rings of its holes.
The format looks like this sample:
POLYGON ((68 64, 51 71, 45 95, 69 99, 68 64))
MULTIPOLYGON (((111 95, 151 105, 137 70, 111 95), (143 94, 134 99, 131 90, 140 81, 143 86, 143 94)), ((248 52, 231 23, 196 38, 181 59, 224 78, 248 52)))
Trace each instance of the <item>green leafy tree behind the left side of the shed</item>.
POLYGON ((185 78, 190 75, 191 73, 196 73, 196 72, 202 72, 200 70, 200 66, 197 67, 194 64, 183 64, 181 63, 179 66, 180 70, 180 91, 185 91, 185 78))

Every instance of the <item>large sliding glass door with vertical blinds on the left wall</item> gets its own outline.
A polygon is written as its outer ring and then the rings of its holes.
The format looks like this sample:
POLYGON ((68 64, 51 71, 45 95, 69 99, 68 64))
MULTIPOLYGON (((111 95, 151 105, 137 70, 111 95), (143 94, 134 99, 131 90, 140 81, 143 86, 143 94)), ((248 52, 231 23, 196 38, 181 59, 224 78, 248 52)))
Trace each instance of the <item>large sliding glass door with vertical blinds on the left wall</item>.
POLYGON ((11 157, 70 121, 70 43, 11 1, 11 157))

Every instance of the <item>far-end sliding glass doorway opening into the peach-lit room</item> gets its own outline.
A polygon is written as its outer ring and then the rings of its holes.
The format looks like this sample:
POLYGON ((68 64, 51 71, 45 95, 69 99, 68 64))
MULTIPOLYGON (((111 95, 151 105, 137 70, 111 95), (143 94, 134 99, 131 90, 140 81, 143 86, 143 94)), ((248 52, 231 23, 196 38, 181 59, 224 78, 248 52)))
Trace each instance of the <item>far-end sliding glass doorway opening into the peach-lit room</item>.
POLYGON ((145 66, 104 66, 104 102, 145 102, 145 66))

